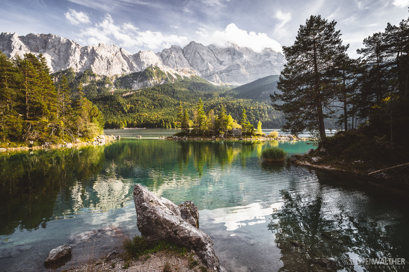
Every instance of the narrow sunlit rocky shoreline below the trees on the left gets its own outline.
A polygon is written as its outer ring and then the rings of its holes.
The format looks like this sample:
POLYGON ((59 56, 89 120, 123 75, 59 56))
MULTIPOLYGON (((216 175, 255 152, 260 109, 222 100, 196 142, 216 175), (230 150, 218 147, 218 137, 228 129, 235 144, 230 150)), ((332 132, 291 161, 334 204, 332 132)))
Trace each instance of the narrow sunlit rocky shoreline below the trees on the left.
MULTIPOLYGON (((80 139, 76 139, 75 141, 71 142, 64 142, 63 144, 52 144, 45 142, 41 146, 18 146, 18 147, 10 147, 10 148, 0 148, 0 152, 4 151, 20 151, 20 150, 38 150, 38 149, 43 149, 43 148, 62 148, 62 147, 72 147, 72 146, 101 146, 107 142, 114 141, 116 139, 120 139, 121 136, 114 136, 114 135, 99 135, 97 137, 94 137, 92 141, 87 141, 87 142, 81 142, 80 139)), ((1 153, 0 153, 1 154, 1 153)))

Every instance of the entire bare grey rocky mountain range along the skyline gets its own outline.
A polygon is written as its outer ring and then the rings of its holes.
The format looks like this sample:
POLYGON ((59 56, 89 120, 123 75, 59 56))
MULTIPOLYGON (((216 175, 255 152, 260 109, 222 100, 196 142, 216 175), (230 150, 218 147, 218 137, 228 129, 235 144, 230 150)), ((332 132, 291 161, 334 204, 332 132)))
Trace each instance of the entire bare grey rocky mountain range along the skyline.
POLYGON ((265 48, 260 53, 248 47, 230 44, 220 48, 190 42, 184 48, 173 45, 162 52, 139 51, 132 54, 116 44, 81 46, 54 34, 3 32, 0 51, 8 57, 42 53, 53 72, 73 68, 76 72, 91 69, 97 75, 126 75, 157 66, 166 74, 184 77, 198 75, 214 84, 242 85, 267 75, 277 75, 285 58, 280 52, 265 48))

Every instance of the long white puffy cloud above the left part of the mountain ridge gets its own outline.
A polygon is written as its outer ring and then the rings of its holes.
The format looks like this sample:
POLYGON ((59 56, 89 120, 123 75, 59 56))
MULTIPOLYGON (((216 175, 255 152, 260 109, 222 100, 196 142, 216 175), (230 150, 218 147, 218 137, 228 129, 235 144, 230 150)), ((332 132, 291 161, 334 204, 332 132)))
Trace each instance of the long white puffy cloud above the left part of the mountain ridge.
POLYGON ((155 31, 139 31, 133 24, 116 25, 109 14, 106 14, 102 22, 95 24, 95 27, 81 29, 79 33, 81 42, 88 44, 98 44, 103 42, 113 44, 118 41, 120 46, 129 49, 163 49, 173 44, 187 44, 187 37, 178 35, 164 35, 155 31))

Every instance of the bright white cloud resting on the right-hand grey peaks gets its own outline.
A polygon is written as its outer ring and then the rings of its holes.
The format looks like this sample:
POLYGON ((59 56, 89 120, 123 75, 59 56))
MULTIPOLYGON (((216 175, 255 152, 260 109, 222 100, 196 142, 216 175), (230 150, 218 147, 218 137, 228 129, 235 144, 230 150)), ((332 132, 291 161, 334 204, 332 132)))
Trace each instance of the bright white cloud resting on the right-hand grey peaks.
MULTIPOLYGON (((207 35, 204 31, 196 31, 196 34, 202 37, 207 35)), ((282 52, 281 45, 266 33, 256 34, 253 31, 239 29, 236 24, 229 24, 224 31, 215 31, 212 37, 209 37, 211 43, 217 46, 228 46, 230 43, 235 43, 240 47, 249 47, 256 52, 261 52, 264 48, 269 47, 274 51, 282 52)))

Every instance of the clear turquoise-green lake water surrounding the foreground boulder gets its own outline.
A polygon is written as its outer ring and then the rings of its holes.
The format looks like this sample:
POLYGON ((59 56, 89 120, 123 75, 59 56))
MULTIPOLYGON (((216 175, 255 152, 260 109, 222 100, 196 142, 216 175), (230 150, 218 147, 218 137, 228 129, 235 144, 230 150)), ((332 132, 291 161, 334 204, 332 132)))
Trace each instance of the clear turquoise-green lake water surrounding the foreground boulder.
POLYGON ((0 255, 33 247, 0 259, 0 270, 38 271, 49 250, 94 228, 115 224, 139 234, 135 183, 176 204, 193 200, 200 229, 228 271, 363 271, 349 258, 409 259, 407 192, 340 173, 264 165, 259 154, 268 146, 290 155, 311 147, 124 137, 106 146, 2 153, 0 255))

